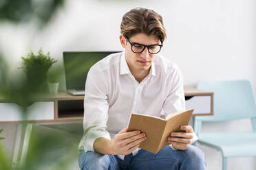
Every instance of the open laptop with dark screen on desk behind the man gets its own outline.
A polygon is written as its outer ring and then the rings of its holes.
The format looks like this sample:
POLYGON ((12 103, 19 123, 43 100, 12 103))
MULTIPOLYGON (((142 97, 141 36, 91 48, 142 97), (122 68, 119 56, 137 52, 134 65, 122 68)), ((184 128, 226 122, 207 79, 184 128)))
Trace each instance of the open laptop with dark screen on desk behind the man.
POLYGON ((91 66, 111 53, 120 51, 64 51, 67 93, 85 95, 85 80, 91 66))

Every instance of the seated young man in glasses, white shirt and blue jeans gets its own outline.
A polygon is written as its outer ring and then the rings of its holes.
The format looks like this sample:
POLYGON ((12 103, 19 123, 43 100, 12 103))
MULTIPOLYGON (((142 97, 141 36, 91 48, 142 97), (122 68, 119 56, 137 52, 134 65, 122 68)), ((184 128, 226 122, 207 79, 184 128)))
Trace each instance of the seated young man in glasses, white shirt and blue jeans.
POLYGON ((162 17, 136 8, 122 17, 120 43, 125 49, 96 63, 85 85, 81 169, 205 169, 204 154, 190 145, 191 126, 170 134, 158 154, 140 149, 147 136, 127 132, 132 112, 159 117, 185 110, 180 69, 157 53, 166 33, 162 17))

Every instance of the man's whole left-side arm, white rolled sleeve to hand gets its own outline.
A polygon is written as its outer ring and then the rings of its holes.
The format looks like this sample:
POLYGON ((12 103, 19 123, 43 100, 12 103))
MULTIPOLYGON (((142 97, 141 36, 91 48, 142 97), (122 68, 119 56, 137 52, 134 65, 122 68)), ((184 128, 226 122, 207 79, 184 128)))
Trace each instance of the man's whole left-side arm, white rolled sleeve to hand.
POLYGON ((83 149, 100 154, 130 154, 145 140, 145 134, 138 131, 120 131, 113 139, 107 132, 108 119, 107 80, 96 68, 90 69, 85 85, 83 149))

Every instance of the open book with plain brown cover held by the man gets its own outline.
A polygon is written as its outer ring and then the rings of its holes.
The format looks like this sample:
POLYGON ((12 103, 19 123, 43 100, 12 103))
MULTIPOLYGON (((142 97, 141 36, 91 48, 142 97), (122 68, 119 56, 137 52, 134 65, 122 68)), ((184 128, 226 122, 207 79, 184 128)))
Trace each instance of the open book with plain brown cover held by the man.
POLYGON ((171 132, 182 132, 180 126, 189 125, 192 110, 169 114, 166 119, 153 117, 145 114, 131 114, 128 131, 140 130, 146 134, 147 139, 143 141, 140 148, 158 153, 166 145, 171 132))

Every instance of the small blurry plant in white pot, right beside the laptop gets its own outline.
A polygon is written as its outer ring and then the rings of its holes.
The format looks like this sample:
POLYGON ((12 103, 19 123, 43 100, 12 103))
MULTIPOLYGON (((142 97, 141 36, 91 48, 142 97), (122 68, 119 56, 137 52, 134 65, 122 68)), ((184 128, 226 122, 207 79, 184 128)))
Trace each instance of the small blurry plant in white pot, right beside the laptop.
POLYGON ((50 93, 58 93, 58 74, 54 69, 50 69, 47 73, 47 84, 50 93))

